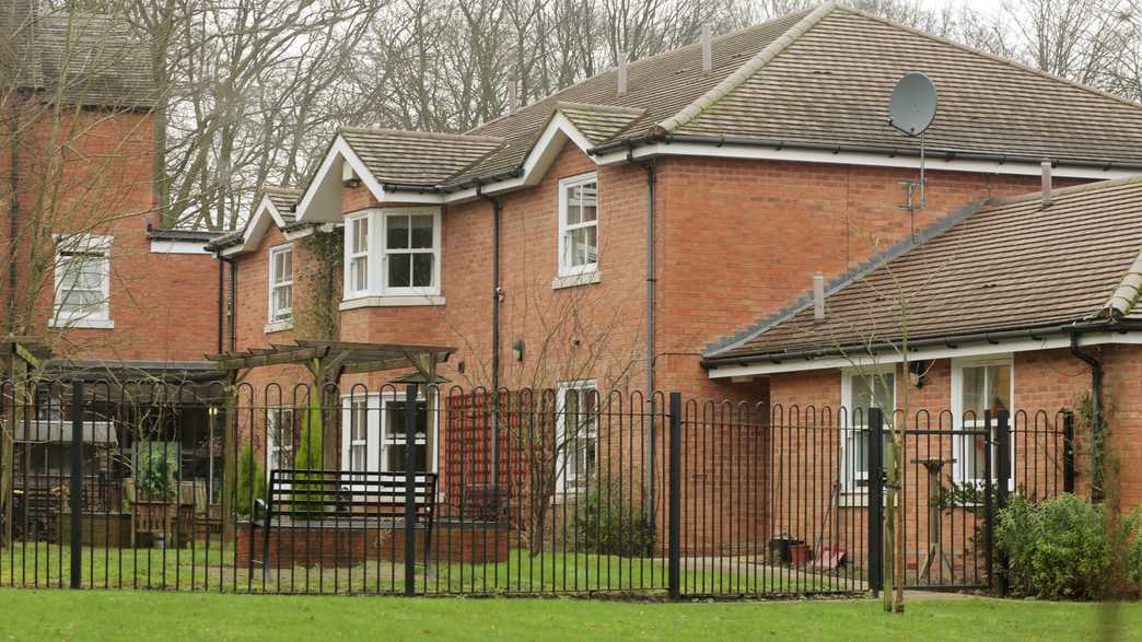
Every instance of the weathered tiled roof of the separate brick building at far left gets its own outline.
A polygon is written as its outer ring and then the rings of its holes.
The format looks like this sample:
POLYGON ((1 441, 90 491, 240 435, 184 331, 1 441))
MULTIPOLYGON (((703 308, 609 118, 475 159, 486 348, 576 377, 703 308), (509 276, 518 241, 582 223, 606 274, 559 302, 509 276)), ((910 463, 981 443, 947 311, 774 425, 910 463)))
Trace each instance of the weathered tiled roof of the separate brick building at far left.
POLYGON ((137 109, 158 102, 148 47, 112 17, 38 15, 33 1, 16 0, 0 9, 0 56, 15 67, 18 85, 49 99, 137 109))

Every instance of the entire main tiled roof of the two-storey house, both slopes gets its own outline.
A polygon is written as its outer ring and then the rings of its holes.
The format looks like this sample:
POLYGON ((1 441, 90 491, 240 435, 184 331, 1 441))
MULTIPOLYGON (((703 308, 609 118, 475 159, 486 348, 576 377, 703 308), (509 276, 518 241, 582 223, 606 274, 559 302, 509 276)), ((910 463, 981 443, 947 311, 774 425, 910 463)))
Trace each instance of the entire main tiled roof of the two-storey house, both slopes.
POLYGON ((716 38, 713 50, 709 73, 691 45, 630 63, 624 96, 610 70, 473 129, 505 144, 452 183, 517 168, 552 114, 576 103, 645 111, 588 135, 598 145, 689 136, 912 151, 917 141, 887 125, 893 85, 912 71, 940 97, 933 157, 1142 163, 1142 105, 861 11, 823 5, 716 38))

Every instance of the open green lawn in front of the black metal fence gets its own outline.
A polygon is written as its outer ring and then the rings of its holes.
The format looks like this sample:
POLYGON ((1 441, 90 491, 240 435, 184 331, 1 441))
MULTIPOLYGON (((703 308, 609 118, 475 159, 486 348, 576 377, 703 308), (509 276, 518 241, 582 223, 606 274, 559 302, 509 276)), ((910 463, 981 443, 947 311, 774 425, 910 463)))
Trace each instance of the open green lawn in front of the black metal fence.
MULTIPOLYGON (((536 599, 0 589, 0 640, 1094 640, 1096 604, 915 601, 628 603, 536 599)), ((1119 612, 1142 639, 1142 604, 1119 612)))

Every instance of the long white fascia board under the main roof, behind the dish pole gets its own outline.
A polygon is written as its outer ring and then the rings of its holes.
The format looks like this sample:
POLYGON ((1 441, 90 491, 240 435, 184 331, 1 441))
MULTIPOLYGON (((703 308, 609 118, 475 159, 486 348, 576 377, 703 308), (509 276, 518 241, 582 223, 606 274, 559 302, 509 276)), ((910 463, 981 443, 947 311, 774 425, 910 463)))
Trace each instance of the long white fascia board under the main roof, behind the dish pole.
MULTIPOLYGON (((707 157, 723 159, 748 159, 748 160, 773 160, 786 162, 812 162, 830 164, 853 164, 867 167, 892 167, 919 170, 919 159, 916 157, 891 157, 887 153, 868 152, 826 152, 817 150, 798 150, 785 147, 754 147, 746 145, 723 145, 717 146, 707 143, 656 143, 635 147, 634 158, 643 159, 662 155, 683 157, 707 157)), ((595 157, 598 164, 613 164, 627 161, 627 152, 609 152, 595 157)), ((1039 176, 1043 169, 1039 163, 1029 162, 998 162, 988 160, 957 159, 941 160, 928 159, 926 168, 928 171, 971 171, 976 174, 1010 174, 1016 176, 1039 176)), ((1069 167, 1060 164, 1053 169, 1054 176, 1059 178, 1081 178, 1092 180, 1110 180, 1113 178, 1126 178, 1136 176, 1137 170, 1127 169, 1099 169, 1094 167, 1069 167)))

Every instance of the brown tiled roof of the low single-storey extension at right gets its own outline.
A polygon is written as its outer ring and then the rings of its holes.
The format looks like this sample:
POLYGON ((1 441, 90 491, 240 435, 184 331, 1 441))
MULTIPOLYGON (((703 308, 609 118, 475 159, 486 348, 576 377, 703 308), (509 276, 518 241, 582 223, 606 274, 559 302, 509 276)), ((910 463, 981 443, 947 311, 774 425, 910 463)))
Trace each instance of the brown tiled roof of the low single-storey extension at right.
POLYGON ((710 346, 711 361, 1140 316, 1142 177, 1000 201, 710 346), (903 311, 902 311, 903 310, 903 311))

